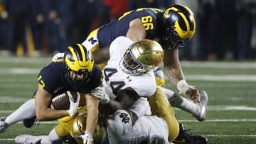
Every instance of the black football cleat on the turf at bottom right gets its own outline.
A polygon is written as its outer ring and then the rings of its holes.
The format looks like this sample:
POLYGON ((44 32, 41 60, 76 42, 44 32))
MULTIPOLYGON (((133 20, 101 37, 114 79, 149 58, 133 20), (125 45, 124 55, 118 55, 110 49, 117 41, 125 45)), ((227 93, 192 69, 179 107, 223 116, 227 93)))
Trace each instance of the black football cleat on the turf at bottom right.
POLYGON ((178 133, 178 137, 173 141, 173 143, 200 143, 205 144, 208 142, 207 138, 201 135, 193 135, 192 133, 188 133, 190 130, 184 130, 183 124, 179 124, 180 131, 178 133))

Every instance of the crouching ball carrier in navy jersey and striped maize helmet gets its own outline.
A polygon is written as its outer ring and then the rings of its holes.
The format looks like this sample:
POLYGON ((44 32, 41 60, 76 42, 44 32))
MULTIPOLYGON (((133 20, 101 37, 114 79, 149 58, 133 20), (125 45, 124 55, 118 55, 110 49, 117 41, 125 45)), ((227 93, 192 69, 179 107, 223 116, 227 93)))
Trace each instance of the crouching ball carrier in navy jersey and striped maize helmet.
MULTIPOLYGON (((90 50, 80 44, 69 46, 62 59, 43 67, 38 74, 38 82, 34 99, 27 101, 7 116, 5 121, 0 121, 0 131, 3 132, 8 126, 22 120, 25 120, 25 126, 31 127, 35 118, 38 121, 59 118, 60 123, 50 133, 52 139, 60 139, 72 130, 73 121, 78 113, 86 110, 88 124, 84 141, 92 143, 92 135, 97 126, 99 101, 90 92, 102 84, 102 72, 100 67, 95 65, 90 50), (50 104, 55 93, 65 91, 78 92, 78 99, 70 99, 68 110, 51 109, 50 104)), ((45 138, 41 143, 48 141, 50 140, 45 138)))

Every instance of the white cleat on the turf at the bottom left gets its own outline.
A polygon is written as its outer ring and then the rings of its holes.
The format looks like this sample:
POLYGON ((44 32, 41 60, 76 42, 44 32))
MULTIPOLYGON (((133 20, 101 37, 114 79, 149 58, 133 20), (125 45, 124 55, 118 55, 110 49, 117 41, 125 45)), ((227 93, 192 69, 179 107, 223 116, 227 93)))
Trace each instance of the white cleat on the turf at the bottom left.
POLYGON ((40 144, 42 140, 42 136, 33 136, 33 135, 18 135, 15 138, 15 142, 18 144, 40 144))

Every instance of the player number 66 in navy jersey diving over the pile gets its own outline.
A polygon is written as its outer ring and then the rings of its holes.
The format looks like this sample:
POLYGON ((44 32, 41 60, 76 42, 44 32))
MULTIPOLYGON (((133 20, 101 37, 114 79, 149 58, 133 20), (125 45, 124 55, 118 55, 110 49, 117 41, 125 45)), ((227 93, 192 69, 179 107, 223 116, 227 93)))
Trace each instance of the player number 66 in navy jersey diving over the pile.
MULTIPOLYGON (((187 84, 178 60, 178 49, 183 48, 195 32, 196 21, 193 12, 187 6, 176 4, 165 11, 142 8, 124 13, 116 21, 92 31, 82 45, 92 51, 95 63, 102 63, 103 68, 105 61, 110 58, 110 43, 118 36, 127 36, 135 42, 144 38, 158 41, 164 49, 164 68, 171 84, 193 101, 178 96, 168 89, 164 92, 169 92, 168 95, 172 98, 169 100, 175 104, 174 106, 192 113, 199 121, 204 121, 208 96, 206 93, 200 96, 198 89, 187 84)), ((164 85, 164 77, 159 79, 162 81, 159 82, 161 86, 164 85)), ((157 89, 154 96, 157 94, 165 95, 160 89, 157 89)), ((161 103, 161 99, 157 101, 161 103)), ((156 107, 154 102, 150 104, 151 107, 156 107)), ((164 111, 158 112, 159 115, 164 114, 164 111)))

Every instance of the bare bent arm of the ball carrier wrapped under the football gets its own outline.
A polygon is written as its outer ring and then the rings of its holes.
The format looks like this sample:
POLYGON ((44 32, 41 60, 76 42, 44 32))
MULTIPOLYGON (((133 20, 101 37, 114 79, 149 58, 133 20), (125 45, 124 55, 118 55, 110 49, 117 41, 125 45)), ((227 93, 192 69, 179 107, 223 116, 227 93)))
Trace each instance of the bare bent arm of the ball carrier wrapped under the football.
POLYGON ((55 110, 50 108, 51 94, 39 84, 36 92, 36 118, 38 121, 50 121, 69 116, 67 110, 55 110))

